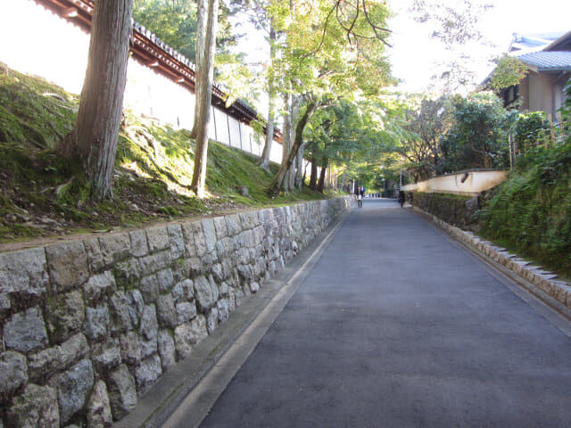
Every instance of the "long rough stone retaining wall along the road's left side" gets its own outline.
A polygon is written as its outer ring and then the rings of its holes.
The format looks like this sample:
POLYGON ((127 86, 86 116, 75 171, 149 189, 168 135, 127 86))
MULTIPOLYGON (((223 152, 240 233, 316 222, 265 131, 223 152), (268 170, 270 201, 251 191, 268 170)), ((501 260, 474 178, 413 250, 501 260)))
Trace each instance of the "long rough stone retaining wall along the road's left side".
POLYGON ((0 428, 110 426, 350 203, 0 254, 0 428))

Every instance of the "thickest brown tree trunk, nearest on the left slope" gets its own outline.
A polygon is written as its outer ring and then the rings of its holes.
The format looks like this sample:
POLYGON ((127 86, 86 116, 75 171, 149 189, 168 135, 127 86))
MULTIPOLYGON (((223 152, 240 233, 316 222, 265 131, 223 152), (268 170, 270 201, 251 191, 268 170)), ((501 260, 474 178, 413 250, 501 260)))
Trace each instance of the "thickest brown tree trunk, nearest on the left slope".
POLYGON ((63 157, 83 163, 95 200, 113 197, 132 12, 133 0, 95 1, 78 117, 58 148, 63 157))

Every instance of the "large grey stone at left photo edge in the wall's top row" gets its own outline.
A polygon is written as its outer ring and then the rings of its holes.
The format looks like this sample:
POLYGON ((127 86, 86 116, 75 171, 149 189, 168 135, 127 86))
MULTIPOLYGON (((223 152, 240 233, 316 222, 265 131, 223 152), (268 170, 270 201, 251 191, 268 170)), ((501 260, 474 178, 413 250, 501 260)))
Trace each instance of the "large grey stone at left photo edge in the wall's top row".
POLYGON ((46 251, 43 248, 4 252, 0 254, 0 296, 2 309, 10 309, 10 297, 41 299, 46 295, 46 251))

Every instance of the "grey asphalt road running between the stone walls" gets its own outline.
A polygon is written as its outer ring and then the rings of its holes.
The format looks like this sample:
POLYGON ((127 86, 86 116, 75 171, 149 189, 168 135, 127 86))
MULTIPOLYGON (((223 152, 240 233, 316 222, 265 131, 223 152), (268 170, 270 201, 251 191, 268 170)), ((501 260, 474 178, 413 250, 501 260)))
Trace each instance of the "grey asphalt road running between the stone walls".
POLYGON ((568 427, 571 340, 547 318, 411 210, 365 200, 201 426, 568 427))

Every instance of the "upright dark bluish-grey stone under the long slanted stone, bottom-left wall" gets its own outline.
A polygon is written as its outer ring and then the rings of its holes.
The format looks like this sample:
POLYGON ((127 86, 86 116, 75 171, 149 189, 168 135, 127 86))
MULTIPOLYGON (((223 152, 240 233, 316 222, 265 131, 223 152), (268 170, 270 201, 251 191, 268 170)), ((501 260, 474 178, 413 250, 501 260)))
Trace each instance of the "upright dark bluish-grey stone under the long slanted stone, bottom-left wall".
POLYGON ((94 384, 94 372, 91 361, 82 359, 59 375, 57 380, 57 399, 60 407, 60 421, 67 423, 87 404, 94 384))

